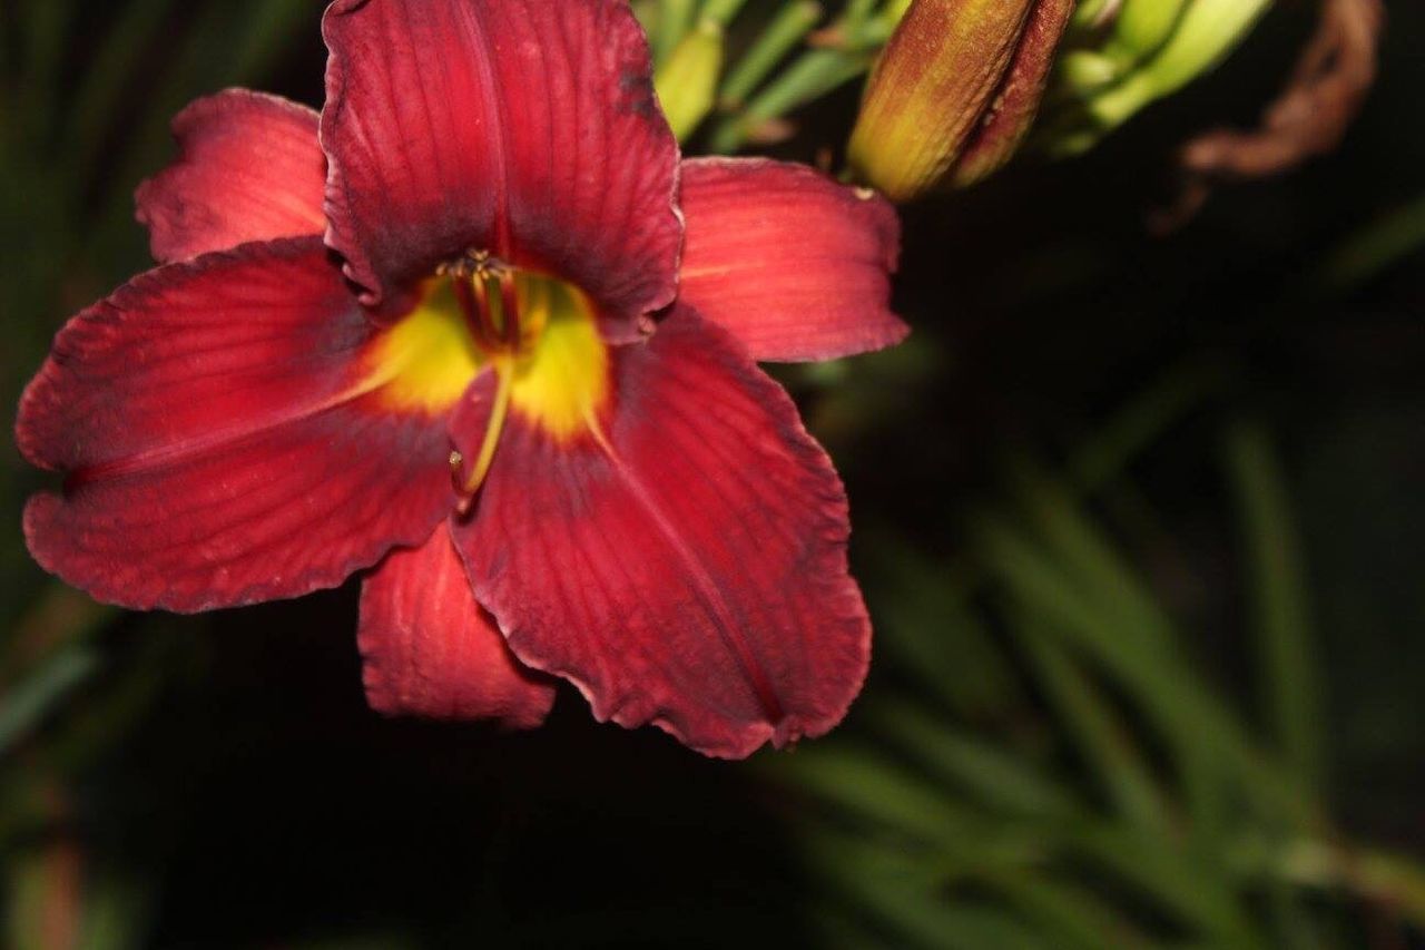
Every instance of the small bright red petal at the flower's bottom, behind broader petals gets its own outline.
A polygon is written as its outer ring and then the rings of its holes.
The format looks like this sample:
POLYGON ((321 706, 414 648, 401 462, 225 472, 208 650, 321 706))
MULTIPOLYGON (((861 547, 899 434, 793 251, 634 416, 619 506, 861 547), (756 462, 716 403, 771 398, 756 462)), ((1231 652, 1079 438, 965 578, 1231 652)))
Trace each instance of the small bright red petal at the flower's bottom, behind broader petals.
POLYGON ((480 609, 445 525, 392 551, 361 591, 356 635, 366 700, 388 716, 499 719, 533 729, 554 682, 523 666, 480 609))

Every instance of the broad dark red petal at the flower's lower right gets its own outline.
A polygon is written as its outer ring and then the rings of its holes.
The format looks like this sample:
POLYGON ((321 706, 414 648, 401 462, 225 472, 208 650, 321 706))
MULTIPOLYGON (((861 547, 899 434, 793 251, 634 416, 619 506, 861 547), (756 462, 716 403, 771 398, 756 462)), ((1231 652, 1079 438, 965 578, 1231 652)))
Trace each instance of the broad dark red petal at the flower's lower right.
POLYGON ((594 715, 741 757, 826 732, 866 672, 846 499, 787 392, 677 310, 613 352, 607 435, 510 414, 473 518, 476 598, 594 715))

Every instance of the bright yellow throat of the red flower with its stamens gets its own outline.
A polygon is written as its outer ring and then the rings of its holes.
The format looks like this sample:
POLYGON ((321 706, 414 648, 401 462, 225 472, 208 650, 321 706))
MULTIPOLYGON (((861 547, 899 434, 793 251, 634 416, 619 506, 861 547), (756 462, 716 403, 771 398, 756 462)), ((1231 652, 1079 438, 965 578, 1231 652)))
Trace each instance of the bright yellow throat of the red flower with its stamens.
POLYGON ((375 341, 368 367, 386 408, 425 415, 452 412, 480 374, 494 374, 483 435, 450 456, 462 509, 512 415, 557 444, 601 438, 608 354, 594 304, 571 284, 483 251, 442 265, 412 312, 375 341))

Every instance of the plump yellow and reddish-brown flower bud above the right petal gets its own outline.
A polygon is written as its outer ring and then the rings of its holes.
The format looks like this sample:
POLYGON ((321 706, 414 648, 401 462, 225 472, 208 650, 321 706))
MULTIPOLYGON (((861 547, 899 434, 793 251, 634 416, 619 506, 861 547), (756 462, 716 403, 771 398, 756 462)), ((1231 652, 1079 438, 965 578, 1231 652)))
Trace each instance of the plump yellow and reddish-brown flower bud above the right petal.
POLYGON ((1073 0, 913 0, 851 136, 856 175, 893 201, 979 181, 1035 118, 1073 0))

